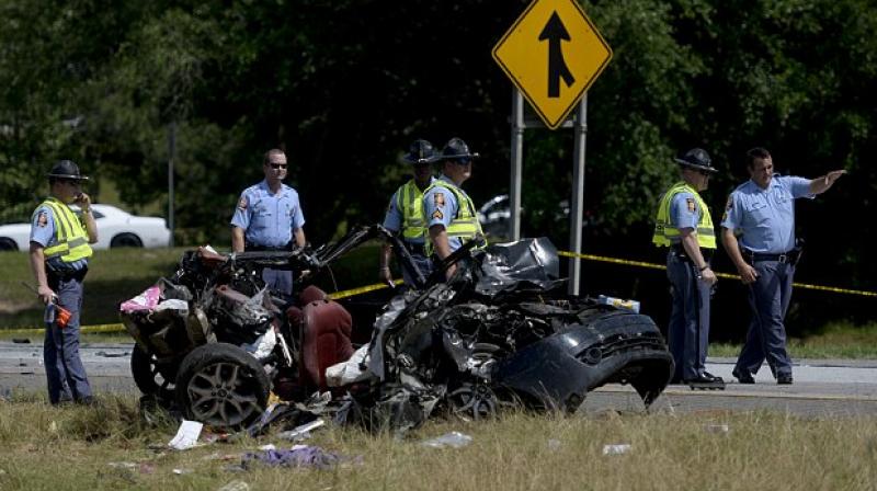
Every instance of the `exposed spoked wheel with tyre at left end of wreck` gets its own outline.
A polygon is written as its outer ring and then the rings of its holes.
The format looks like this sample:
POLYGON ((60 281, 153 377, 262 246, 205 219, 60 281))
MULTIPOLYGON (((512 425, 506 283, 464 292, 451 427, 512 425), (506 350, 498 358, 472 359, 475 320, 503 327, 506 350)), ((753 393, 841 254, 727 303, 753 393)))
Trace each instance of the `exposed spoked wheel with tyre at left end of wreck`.
POLYGON ((226 343, 198 346, 183 358, 176 376, 176 402, 186 419, 239 429, 267 403, 267 374, 246 351, 226 343))

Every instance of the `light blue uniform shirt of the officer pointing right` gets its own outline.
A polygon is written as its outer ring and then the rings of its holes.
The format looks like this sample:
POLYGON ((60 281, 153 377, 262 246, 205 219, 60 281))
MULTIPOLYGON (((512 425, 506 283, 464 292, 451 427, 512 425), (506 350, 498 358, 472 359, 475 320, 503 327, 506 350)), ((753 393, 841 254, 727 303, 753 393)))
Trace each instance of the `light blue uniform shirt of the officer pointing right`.
POLYGON ((810 180, 774 174, 766 190, 750 180, 740 184, 725 207, 721 226, 739 236, 752 252, 783 254, 795 248, 795 199, 813 197, 810 180))

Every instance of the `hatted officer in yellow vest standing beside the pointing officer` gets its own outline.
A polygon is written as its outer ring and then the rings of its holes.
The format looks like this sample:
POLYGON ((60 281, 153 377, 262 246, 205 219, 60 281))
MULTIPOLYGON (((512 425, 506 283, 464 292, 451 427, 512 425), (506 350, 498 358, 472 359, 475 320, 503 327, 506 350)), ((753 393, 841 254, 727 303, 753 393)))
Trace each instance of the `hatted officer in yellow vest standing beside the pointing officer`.
POLYGON ((716 250, 716 235, 709 208, 701 192, 716 172, 709 155, 688 150, 681 159, 682 180, 661 197, 654 220, 652 242, 668 247, 667 275, 673 297, 668 328, 668 344, 676 365, 673 382, 715 385, 724 388, 721 377, 704 369, 709 340, 710 290, 716 274, 709 260, 716 250))

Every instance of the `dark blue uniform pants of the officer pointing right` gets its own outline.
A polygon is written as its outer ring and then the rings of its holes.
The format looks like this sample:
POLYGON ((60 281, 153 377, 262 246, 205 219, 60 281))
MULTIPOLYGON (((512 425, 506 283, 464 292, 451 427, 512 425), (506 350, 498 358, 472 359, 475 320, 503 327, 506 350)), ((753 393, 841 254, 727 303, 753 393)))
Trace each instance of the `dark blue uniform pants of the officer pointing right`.
POLYGON ((737 358, 738 372, 756 374, 766 359, 774 377, 791 375, 784 320, 791 300, 795 266, 778 261, 755 261, 759 277, 749 285, 752 321, 737 358))

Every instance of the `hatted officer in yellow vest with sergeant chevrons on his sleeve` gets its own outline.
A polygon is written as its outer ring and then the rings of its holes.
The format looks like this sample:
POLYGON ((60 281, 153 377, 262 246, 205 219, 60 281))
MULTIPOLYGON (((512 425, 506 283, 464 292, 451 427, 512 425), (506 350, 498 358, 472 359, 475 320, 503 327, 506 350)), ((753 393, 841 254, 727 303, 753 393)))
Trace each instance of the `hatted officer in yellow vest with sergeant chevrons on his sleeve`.
MULTIPOLYGON (((423 193, 423 214, 426 217, 426 254, 442 261, 464 243, 482 236, 475 205, 460 185, 472 174, 472 160, 478 153, 459 138, 451 138, 442 149, 442 175, 423 193)), ((480 247, 483 247, 481 244, 480 247)), ((454 275, 456 265, 445 272, 454 275)))

